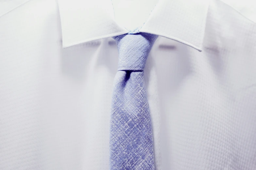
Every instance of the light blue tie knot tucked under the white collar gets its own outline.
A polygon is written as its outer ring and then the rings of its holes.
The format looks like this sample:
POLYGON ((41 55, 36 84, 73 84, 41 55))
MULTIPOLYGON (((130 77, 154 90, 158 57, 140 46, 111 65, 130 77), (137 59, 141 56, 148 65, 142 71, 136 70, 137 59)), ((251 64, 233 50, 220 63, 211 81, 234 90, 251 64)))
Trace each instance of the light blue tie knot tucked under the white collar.
POLYGON ((118 71, 143 71, 148 54, 158 36, 148 33, 113 37, 119 52, 118 71))

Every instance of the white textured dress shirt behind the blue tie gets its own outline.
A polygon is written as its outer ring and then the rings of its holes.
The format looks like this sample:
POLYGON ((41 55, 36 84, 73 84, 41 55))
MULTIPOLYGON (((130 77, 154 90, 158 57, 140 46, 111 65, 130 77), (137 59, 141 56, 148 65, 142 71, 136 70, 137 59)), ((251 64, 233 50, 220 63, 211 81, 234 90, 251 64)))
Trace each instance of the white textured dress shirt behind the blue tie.
POLYGON ((255 170, 252 9, 230 0, 0 2, 0 169, 108 170, 111 37, 146 32, 160 35, 144 71, 156 170, 255 170))

